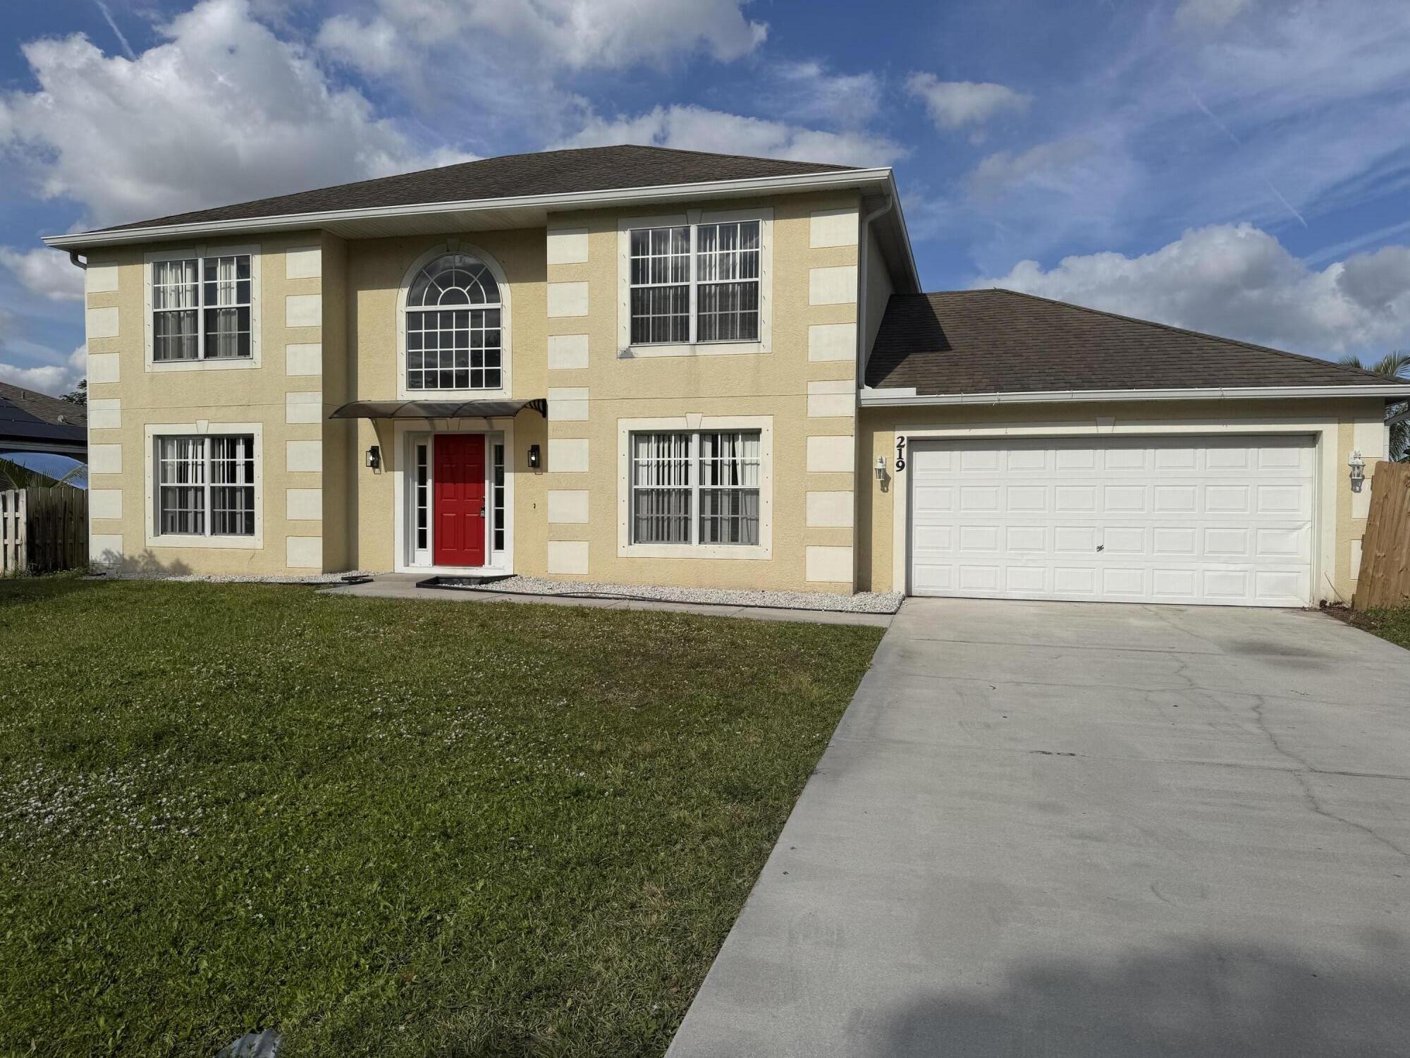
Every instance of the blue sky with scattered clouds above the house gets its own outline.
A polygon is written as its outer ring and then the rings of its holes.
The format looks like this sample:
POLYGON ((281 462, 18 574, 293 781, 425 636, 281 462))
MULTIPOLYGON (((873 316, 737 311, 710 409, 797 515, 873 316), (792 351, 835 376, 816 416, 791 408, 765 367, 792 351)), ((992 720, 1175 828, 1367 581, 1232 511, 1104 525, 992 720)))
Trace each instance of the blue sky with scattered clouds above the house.
POLYGON ((1410 346, 1404 0, 66 0, 0 44, 0 378, 82 377, 42 234, 596 142, 895 166, 928 289, 1410 346))

